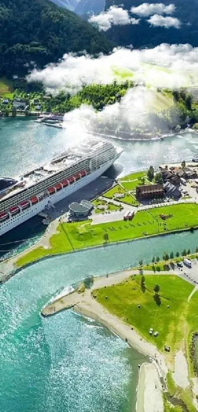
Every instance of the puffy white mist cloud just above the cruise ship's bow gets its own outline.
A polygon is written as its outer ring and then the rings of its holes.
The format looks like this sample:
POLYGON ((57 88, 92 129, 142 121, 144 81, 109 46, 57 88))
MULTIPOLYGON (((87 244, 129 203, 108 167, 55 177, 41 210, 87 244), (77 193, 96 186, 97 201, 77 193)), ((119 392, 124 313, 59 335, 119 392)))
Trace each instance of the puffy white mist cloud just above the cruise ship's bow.
MULTIPOLYGON (((130 134, 142 129, 153 130, 156 126, 156 117, 152 110, 156 107, 170 107, 172 102, 166 95, 159 94, 154 89, 137 86, 129 89, 120 102, 106 106, 102 111, 96 112, 93 107, 82 105, 79 109, 64 115, 65 141, 75 138, 85 138, 87 133, 94 136, 130 137, 130 134)), ((179 110, 178 110, 179 116, 179 110)), ((174 125, 178 123, 175 116, 174 125)), ((163 113, 158 118, 158 128, 164 130, 163 113)), ((141 138, 141 137, 140 137, 141 138)))

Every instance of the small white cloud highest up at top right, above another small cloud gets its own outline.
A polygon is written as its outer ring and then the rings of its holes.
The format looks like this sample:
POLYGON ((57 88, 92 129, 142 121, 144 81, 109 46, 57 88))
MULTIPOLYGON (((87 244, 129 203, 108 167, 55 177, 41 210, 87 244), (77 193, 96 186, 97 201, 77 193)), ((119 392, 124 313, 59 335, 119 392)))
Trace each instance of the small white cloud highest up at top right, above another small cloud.
POLYGON ((131 12, 140 17, 148 17, 152 14, 172 14, 174 11, 175 5, 172 3, 168 6, 164 3, 142 3, 138 7, 131 8, 131 12))

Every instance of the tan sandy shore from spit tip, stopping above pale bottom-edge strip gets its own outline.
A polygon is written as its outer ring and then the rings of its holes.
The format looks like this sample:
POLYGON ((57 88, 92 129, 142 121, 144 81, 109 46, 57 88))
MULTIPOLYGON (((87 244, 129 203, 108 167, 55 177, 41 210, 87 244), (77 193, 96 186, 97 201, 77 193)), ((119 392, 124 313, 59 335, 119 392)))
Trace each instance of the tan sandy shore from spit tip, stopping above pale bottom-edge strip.
MULTIPOLYGON (((148 343, 134 328, 112 315, 92 296, 91 292, 94 289, 111 286, 126 280, 131 275, 139 274, 138 270, 123 270, 120 272, 94 277, 93 284, 90 289, 85 289, 85 292, 78 293, 77 290, 66 294, 59 299, 54 299, 48 305, 44 306, 41 311, 42 316, 48 317, 57 312, 72 307, 73 310, 83 316, 92 318, 108 329, 112 330, 122 340, 126 341, 129 346, 134 347, 144 356, 148 356, 155 360, 158 364, 158 369, 161 371, 162 378, 166 377, 168 372, 165 357, 159 352, 155 345, 148 343), (156 361, 158 359, 158 362, 156 361), (160 365, 160 366, 159 366, 160 365)), ((148 275, 153 275, 152 271, 148 271, 148 275)), ((170 275, 169 272, 161 272, 161 275, 170 275)))

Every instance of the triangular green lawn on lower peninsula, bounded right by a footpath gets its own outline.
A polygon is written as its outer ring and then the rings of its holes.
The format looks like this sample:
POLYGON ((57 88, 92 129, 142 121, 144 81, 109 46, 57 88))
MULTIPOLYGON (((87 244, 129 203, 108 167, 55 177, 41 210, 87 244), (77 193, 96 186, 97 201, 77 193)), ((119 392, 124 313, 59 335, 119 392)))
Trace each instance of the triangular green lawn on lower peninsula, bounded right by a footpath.
POLYGON ((141 275, 137 275, 123 283, 95 290, 93 295, 111 313, 135 327, 147 341, 156 344, 158 349, 164 351, 164 345, 170 345, 172 354, 181 345, 188 296, 194 286, 174 275, 145 275, 145 287, 143 293, 141 275), (160 286, 160 304, 154 300, 155 284, 160 286), (157 330, 159 335, 150 336, 150 328, 157 330))

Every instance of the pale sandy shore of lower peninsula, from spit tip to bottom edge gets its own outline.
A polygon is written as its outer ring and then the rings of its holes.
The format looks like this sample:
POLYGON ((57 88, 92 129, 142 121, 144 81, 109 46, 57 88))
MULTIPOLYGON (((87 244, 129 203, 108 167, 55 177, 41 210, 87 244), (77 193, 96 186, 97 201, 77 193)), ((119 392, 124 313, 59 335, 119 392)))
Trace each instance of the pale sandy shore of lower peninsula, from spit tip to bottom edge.
MULTIPOLYGON (((130 347, 138 350, 141 354, 148 357, 149 360, 141 364, 138 384, 136 388, 136 411, 137 412, 163 412, 163 391, 167 391, 166 375, 168 368, 165 357, 161 354, 155 345, 146 342, 141 335, 124 323, 121 319, 112 315, 100 303, 95 301, 91 296, 92 290, 103 286, 109 286, 127 279, 131 274, 138 271, 122 271, 111 275, 103 275, 94 278, 93 285, 86 289, 84 293, 73 291, 45 306, 41 314, 43 316, 52 316, 61 310, 71 309, 95 321, 102 326, 111 330, 119 336, 130 347), (149 402, 148 402, 149 401, 149 402)), ((164 273, 165 274, 165 273, 164 273)), ((166 273, 169 275, 169 273, 166 273)))

